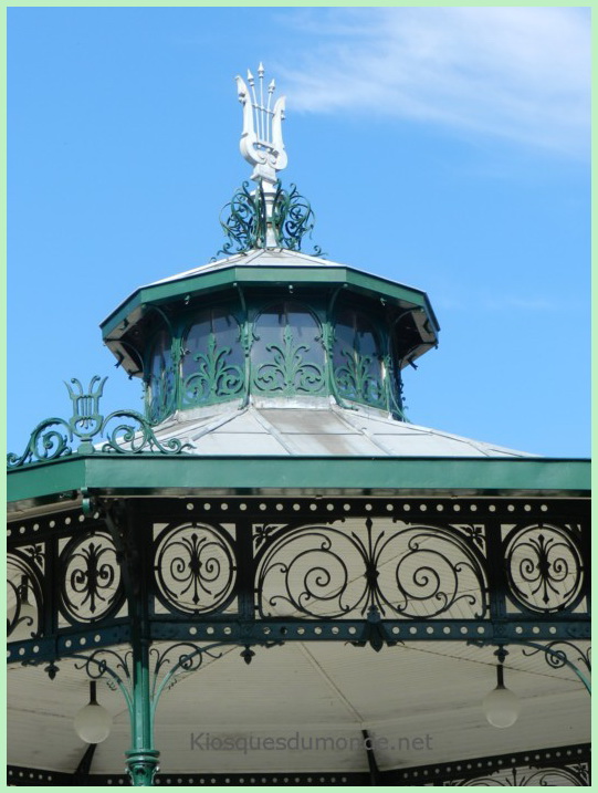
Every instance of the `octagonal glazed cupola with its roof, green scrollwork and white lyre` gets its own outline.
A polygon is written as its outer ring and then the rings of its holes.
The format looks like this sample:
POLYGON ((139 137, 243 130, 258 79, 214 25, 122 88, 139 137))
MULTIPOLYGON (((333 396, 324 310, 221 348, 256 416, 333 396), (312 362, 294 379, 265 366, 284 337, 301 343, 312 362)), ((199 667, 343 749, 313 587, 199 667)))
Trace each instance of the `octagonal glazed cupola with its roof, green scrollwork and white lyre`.
POLYGON ((405 419, 401 371, 437 344, 424 292, 339 264, 314 246, 308 201, 282 186, 285 100, 237 77, 251 180, 221 215, 227 240, 204 267, 138 289, 103 323, 105 344, 143 379, 154 425, 221 405, 382 411, 405 419))

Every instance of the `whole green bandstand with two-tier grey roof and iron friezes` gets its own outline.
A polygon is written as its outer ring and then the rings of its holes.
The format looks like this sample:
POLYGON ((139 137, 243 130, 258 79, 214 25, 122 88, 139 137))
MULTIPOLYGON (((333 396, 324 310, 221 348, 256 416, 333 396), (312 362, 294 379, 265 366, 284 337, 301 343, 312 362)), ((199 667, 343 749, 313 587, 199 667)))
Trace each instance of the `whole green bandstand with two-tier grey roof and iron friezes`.
POLYGON ((145 414, 9 455, 8 783, 588 785, 589 461, 407 420, 434 312, 305 252, 263 81, 221 258, 102 323, 145 414))

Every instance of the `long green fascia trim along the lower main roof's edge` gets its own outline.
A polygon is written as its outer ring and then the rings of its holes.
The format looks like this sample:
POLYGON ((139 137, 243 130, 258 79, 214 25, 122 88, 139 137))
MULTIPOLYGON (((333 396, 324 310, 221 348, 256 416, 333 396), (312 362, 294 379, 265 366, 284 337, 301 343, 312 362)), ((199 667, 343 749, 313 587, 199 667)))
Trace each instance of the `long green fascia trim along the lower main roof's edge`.
POLYGON ((114 495, 589 494, 590 461, 550 458, 72 456, 9 471, 8 503, 114 495))

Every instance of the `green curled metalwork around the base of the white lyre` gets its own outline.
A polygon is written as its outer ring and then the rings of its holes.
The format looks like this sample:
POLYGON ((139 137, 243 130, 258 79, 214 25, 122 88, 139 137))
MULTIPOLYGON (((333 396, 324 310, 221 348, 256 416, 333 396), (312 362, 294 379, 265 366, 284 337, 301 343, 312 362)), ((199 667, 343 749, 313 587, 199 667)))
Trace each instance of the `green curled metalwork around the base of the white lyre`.
MULTIPOLYGON (((277 181, 272 207, 272 218, 267 218, 266 200, 262 184, 252 191, 249 181, 235 190, 233 197, 220 213, 220 225, 228 242, 217 252, 231 255, 248 253, 251 250, 266 248, 269 225, 274 232, 277 248, 300 251, 303 238, 312 236, 315 216, 307 199, 300 195, 296 185, 285 190, 277 181)), ((324 255, 318 246, 314 246, 311 255, 324 255)), ((212 260, 216 261, 216 258, 212 260)))

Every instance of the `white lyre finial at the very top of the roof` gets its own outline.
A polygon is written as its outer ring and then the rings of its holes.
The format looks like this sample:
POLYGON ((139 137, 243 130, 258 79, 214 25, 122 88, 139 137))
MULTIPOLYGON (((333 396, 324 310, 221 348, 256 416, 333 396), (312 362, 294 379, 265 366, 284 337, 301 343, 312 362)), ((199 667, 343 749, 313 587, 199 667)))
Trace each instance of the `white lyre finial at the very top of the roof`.
POLYGON ((276 88, 272 80, 267 86, 267 104, 264 97, 264 67, 258 67, 259 88, 248 70, 248 83, 237 77, 239 102, 243 105, 243 133, 240 148, 243 157, 253 166, 251 178, 261 182, 269 192, 276 182, 276 171, 286 167, 287 157, 282 139, 285 97, 281 96, 272 107, 272 95, 276 88))

